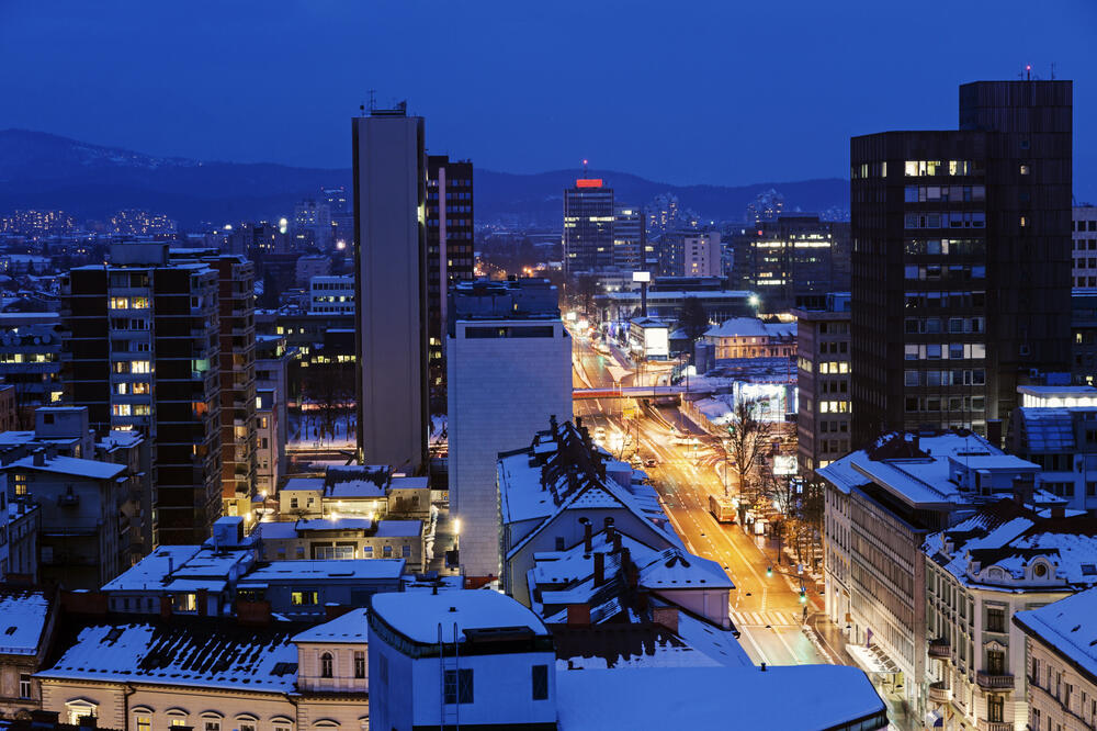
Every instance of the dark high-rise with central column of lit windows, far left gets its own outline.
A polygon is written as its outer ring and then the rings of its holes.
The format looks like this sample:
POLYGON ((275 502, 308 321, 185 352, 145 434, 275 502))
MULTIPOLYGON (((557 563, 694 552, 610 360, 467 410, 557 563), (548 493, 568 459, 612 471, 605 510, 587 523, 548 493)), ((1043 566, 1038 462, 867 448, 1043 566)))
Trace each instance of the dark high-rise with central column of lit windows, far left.
POLYGON ((200 543, 222 508, 218 273, 167 244, 116 244, 61 284, 66 401, 152 442, 160 542, 200 543))

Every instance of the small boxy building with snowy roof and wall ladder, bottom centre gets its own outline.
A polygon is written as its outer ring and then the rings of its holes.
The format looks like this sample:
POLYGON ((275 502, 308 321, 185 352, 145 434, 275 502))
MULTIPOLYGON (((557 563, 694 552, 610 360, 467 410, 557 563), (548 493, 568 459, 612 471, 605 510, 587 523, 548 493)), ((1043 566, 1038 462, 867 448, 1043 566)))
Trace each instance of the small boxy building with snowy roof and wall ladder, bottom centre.
POLYGON ((374 597, 371 723, 380 729, 556 729, 544 622, 491 591, 374 597))

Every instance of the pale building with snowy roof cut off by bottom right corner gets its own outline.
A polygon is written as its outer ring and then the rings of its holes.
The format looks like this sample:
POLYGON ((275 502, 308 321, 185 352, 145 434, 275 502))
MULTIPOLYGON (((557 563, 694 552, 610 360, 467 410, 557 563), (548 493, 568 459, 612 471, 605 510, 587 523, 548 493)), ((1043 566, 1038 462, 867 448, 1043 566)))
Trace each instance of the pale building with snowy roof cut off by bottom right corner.
POLYGON ((1097 589, 1018 611, 1014 626, 1025 636, 1024 728, 1097 727, 1097 589))

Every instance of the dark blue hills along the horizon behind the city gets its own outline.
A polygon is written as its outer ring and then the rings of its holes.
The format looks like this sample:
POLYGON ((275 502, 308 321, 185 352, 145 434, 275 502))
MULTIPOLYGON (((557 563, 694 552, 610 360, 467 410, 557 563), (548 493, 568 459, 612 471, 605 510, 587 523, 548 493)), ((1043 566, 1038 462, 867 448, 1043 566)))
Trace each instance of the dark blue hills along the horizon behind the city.
MULTIPOLYGON (((581 175, 556 170, 513 175, 476 170, 478 221, 513 216, 558 222, 562 191, 581 175)), ((759 192, 776 188, 790 211, 849 207, 849 183, 840 179, 754 185, 670 185, 626 172, 600 171, 619 201, 646 203, 674 193, 683 207, 711 218, 739 218, 759 192)), ((274 218, 293 211, 320 188, 351 184, 349 169, 295 168, 273 164, 203 162, 101 147, 26 130, 0 132, 0 214, 15 209, 61 209, 84 218, 106 218, 120 209, 166 213, 184 227, 274 218)))

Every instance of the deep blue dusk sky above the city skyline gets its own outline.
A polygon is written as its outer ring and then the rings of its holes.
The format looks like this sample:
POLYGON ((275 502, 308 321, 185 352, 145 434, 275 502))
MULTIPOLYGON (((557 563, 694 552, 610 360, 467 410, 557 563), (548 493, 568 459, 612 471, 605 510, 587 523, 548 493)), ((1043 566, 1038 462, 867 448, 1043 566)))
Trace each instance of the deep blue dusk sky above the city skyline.
POLYGON ((0 0, 0 128, 346 167, 372 88, 479 167, 735 184, 844 177, 850 135, 1055 61, 1097 199, 1095 38, 1094 0, 0 0))

